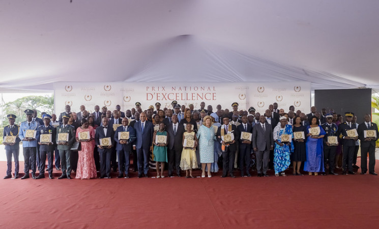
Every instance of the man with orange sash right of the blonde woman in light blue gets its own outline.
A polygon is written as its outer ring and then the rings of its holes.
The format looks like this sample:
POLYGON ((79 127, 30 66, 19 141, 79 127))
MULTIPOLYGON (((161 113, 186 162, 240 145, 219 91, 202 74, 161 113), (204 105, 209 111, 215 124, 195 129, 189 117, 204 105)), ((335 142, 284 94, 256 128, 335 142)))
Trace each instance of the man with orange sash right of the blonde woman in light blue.
POLYGON ((237 150, 237 141, 238 141, 238 131, 236 125, 229 124, 229 116, 223 116, 221 125, 217 130, 218 140, 221 142, 221 151, 223 158, 223 167, 222 167, 222 176, 227 177, 229 172, 230 177, 235 178, 233 174, 233 165, 236 157, 237 150), (230 142, 225 142, 224 135, 232 134, 234 136, 234 140, 230 142))

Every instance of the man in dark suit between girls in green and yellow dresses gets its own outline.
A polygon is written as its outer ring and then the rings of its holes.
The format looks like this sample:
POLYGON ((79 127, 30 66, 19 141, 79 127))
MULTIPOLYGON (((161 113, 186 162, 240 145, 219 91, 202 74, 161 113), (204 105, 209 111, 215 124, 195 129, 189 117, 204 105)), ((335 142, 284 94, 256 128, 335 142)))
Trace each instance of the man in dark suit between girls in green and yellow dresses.
MULTIPOLYGON (((171 109, 168 109, 171 110, 171 109)), ((168 111, 167 110, 167 111, 168 111)), ((168 145, 167 145, 167 159, 168 159, 168 176, 172 177, 173 167, 175 165, 177 169, 178 177, 180 175, 180 159, 183 150, 183 133, 184 126, 179 125, 178 116, 172 115, 172 122, 166 125, 166 131, 168 133, 168 145)))

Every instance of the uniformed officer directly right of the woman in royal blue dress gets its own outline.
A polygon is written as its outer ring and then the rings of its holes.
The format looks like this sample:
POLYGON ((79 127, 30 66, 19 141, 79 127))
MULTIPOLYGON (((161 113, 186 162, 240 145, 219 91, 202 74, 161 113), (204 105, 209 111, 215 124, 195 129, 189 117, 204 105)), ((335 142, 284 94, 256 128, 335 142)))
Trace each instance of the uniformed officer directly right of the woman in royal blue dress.
MULTIPOLYGON (((336 157, 336 146, 331 146, 328 142, 329 136, 337 136, 338 137, 338 127, 335 123, 333 123, 333 113, 327 113, 325 115, 326 123, 322 125, 323 129, 325 130, 326 134, 323 138, 324 141, 324 166, 326 171, 326 165, 329 161, 329 174, 332 175, 338 175, 337 173, 334 173, 334 161, 336 157)), ((337 141, 338 144, 338 141, 337 141)), ((324 174, 323 174, 324 175, 324 174)), ((325 172, 326 175, 326 172, 325 172)))

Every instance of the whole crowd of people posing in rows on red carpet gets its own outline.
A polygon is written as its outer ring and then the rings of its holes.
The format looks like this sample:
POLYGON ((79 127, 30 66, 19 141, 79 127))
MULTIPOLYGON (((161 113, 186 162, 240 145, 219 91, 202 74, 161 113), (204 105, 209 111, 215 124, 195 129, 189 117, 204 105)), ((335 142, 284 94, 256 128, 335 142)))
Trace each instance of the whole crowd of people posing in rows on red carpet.
MULTIPOLYGON (((288 111, 270 104, 265 113, 255 112, 254 107, 239 110, 237 102, 231 110, 211 105, 195 110, 172 101, 172 107, 161 109, 159 102, 142 110, 141 103, 121 111, 116 105, 113 111, 96 105, 94 112, 72 112, 69 105, 59 117, 26 109, 26 121, 15 124, 16 116, 7 116, 9 125, 4 128, 7 172, 4 179, 19 173, 19 145, 22 141, 24 176, 45 178, 47 171, 53 179, 53 166, 62 171, 58 179, 111 178, 111 170, 118 178, 129 178, 129 171, 138 178, 149 177, 156 171, 156 178, 164 178, 167 164, 168 176, 194 178, 193 169, 201 169, 201 177, 251 177, 256 169, 258 177, 286 176, 285 170, 293 168, 294 176, 356 174, 357 154, 361 149, 361 174, 367 171, 377 175, 375 167, 375 141, 379 132, 369 114, 358 124, 353 112, 344 117, 333 109, 317 111, 312 106, 307 115, 290 106, 288 111), (369 165, 367 167, 367 156, 369 165), (133 161, 133 168, 130 162, 133 161), (341 163, 341 164, 339 164, 341 163), (39 170, 39 176, 36 171, 39 170), (149 169, 150 174, 149 174, 149 169), (152 171, 153 170, 153 171, 152 171)), ((288 174, 288 173, 287 173, 288 174)))

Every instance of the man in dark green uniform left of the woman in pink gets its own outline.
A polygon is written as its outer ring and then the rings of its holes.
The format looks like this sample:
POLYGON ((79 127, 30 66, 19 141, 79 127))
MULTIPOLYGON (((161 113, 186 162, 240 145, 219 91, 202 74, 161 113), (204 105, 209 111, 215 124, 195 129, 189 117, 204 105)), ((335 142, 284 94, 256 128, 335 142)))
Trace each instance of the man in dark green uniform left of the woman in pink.
POLYGON ((71 147, 74 144, 75 139, 75 129, 73 126, 69 125, 70 116, 63 115, 62 120, 63 124, 56 127, 56 144, 57 149, 59 150, 59 156, 61 158, 61 169, 62 175, 58 179, 71 179, 71 147))

